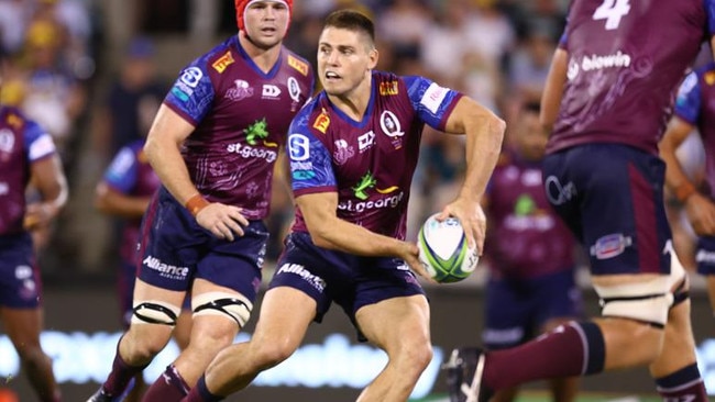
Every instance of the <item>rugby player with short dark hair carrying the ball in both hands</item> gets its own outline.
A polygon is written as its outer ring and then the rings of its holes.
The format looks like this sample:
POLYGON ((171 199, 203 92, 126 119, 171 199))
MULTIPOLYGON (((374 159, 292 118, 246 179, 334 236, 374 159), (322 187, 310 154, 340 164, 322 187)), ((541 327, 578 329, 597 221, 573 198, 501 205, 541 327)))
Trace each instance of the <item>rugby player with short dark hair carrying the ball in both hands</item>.
POLYGON ((419 76, 374 70, 373 22, 340 10, 318 44, 324 90, 294 119, 288 136, 296 221, 250 342, 211 362, 184 401, 219 401, 288 358, 311 322, 342 308, 361 340, 387 364, 358 401, 404 402, 432 358, 429 305, 405 242, 407 204, 424 126, 465 136, 465 179, 442 210, 482 249, 480 200, 494 169, 504 122, 462 93, 419 76), (411 268, 411 271, 410 271, 411 268))

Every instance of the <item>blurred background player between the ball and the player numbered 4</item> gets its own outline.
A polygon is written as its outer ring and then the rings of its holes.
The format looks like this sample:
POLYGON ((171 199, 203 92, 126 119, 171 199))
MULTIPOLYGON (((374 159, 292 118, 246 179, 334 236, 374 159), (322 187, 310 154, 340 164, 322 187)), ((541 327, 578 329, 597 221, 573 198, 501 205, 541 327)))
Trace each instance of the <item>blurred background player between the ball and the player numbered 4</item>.
MULTIPOLYGON (((482 340, 491 350, 520 345, 583 316, 576 242, 543 192, 548 133, 539 123, 539 110, 536 102, 521 107, 509 132, 513 146, 499 158, 482 199, 490 222, 482 340)), ((579 379, 553 379, 550 390, 553 401, 574 401, 579 379)), ((513 401, 516 394, 516 388, 501 390, 492 402, 513 401)))

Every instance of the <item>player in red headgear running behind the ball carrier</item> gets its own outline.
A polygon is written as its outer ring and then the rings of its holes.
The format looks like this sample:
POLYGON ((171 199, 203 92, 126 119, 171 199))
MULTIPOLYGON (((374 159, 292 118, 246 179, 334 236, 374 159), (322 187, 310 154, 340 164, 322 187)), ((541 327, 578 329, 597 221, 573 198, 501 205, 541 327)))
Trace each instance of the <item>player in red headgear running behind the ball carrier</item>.
POLYGON ((187 66, 144 152, 162 187, 144 215, 134 314, 107 381, 117 400, 168 342, 187 291, 188 347, 144 401, 178 400, 251 316, 268 237, 273 168, 314 90, 310 65, 283 47, 290 0, 237 0, 239 34, 187 66))

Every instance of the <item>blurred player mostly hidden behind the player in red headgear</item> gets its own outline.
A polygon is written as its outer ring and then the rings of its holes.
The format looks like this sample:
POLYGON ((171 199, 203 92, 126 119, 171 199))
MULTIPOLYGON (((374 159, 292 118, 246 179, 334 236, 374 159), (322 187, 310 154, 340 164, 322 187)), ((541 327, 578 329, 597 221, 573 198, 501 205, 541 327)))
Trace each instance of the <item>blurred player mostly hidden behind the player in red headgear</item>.
MULTIPOLYGON (((117 293, 124 330, 129 328, 132 315, 132 295, 139 261, 136 246, 140 239, 142 215, 148 206, 152 194, 158 189, 160 180, 144 155, 144 139, 123 146, 114 156, 102 180, 97 185, 95 205, 101 212, 122 219, 120 263, 117 293)), ((185 303, 186 304, 186 303, 185 303)), ((188 346, 191 332, 190 305, 185 305, 177 319, 174 338, 179 349, 188 346)), ((139 401, 143 392, 142 373, 135 376, 135 386, 125 401, 139 401)))

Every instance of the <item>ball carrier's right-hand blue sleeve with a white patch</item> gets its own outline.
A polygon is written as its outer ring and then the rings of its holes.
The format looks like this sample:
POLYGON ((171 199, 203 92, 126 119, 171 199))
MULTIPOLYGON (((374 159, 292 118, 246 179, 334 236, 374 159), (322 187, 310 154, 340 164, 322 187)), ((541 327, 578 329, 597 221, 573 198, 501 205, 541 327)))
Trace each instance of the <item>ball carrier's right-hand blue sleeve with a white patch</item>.
POLYGON ((459 91, 440 87, 425 77, 407 76, 403 78, 407 86, 409 100, 419 119, 430 127, 443 131, 447 118, 462 94, 459 91))

